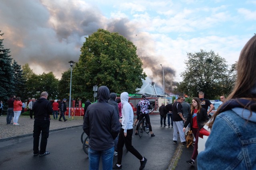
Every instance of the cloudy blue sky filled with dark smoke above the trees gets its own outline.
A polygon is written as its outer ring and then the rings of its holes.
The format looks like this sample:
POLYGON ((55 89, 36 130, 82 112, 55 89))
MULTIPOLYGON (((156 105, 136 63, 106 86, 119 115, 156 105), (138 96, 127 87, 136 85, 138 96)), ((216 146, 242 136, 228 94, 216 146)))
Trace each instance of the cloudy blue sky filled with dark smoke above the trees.
MULTIPOLYGON (((148 77, 163 94, 182 81, 187 53, 213 50, 231 65, 256 33, 256 0, 1 0, 4 47, 20 65, 57 78, 78 61, 85 37, 118 32, 137 47, 148 77)), ((151 91, 150 91, 151 90, 151 91)))

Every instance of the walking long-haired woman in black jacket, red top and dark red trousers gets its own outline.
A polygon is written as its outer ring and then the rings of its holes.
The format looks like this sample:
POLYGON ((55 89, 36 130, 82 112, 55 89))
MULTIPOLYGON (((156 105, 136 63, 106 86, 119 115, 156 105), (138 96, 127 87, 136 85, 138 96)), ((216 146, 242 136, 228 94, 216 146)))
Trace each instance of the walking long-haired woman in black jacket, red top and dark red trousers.
POLYGON ((191 165, 195 164, 196 156, 198 155, 197 149, 198 149, 199 131, 202 127, 204 127, 204 124, 208 121, 208 119, 209 118, 207 115, 207 110, 201 106, 200 99, 193 98, 192 105, 191 105, 191 112, 190 114, 188 114, 188 118, 184 123, 184 127, 183 127, 183 131, 185 132, 186 127, 190 123, 191 130, 194 134, 194 137, 196 138, 194 151, 191 159, 187 161, 188 164, 191 164, 191 165))

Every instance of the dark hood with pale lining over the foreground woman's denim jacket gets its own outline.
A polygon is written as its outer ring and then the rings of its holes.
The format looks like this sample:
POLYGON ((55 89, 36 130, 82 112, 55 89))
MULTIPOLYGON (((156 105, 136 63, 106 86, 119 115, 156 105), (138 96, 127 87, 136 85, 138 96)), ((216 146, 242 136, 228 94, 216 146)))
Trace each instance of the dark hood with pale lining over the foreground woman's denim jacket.
POLYGON ((224 112, 228 109, 232 109, 237 115, 245 120, 249 120, 256 123, 256 102, 247 99, 231 99, 223 104, 220 108, 220 112, 224 112), (247 106, 249 109, 246 109, 247 106))

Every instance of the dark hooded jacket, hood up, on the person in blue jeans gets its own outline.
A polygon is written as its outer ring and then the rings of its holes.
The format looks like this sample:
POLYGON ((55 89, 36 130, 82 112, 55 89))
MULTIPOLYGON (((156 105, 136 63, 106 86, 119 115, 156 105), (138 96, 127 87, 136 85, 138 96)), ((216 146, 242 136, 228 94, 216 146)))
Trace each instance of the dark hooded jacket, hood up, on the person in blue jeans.
POLYGON ((108 104, 109 90, 100 86, 97 102, 88 106, 84 115, 83 130, 90 138, 89 147, 93 150, 106 150, 114 146, 120 123, 114 106, 108 104))

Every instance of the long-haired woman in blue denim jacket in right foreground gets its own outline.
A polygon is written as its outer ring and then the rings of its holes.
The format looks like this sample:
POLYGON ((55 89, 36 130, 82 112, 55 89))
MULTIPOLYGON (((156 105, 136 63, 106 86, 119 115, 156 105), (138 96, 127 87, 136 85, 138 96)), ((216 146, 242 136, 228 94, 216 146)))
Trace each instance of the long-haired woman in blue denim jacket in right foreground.
POLYGON ((241 51, 234 90, 209 123, 198 170, 256 169, 256 35, 241 51))

